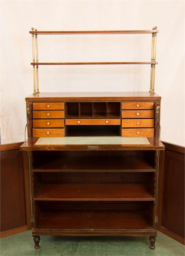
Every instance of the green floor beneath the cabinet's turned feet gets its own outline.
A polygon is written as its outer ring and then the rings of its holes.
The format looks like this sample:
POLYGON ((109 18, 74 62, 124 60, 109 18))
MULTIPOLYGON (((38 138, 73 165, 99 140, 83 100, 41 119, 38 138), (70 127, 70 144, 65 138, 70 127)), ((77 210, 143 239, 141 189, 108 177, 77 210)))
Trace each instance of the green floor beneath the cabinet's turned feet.
POLYGON ((1 256, 37 255, 185 255, 184 245, 158 232, 155 250, 149 248, 148 237, 60 237, 41 236, 40 249, 34 249, 31 231, 0 239, 1 256))

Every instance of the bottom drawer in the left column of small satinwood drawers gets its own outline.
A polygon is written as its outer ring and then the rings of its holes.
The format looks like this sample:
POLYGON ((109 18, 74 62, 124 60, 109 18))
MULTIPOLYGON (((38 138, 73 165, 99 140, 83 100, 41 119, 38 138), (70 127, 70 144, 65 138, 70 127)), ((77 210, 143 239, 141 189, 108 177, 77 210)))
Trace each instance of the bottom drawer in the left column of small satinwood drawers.
POLYGON ((33 128, 33 137, 64 137, 64 128, 33 128))

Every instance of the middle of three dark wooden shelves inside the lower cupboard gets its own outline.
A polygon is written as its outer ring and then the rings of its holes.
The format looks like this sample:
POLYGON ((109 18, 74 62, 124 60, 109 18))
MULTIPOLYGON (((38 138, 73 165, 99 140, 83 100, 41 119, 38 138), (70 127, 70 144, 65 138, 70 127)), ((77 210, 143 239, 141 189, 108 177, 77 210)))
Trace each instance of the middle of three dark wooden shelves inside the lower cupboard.
POLYGON ((34 200, 59 201, 154 201, 146 184, 67 183, 42 184, 34 200))

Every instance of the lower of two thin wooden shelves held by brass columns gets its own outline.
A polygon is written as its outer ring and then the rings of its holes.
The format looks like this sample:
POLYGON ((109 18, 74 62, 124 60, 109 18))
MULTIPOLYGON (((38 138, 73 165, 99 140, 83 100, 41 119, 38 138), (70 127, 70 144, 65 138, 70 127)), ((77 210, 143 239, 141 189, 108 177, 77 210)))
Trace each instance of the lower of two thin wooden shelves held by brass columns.
POLYGON ((158 64, 156 61, 148 61, 148 62, 31 62, 31 65, 128 65, 128 64, 158 64))

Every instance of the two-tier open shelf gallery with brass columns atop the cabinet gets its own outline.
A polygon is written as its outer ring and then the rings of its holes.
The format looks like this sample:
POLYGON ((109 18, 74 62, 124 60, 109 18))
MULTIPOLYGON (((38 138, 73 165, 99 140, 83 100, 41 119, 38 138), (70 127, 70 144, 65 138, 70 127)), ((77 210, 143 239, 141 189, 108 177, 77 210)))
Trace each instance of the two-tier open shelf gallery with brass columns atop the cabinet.
POLYGON ((155 61, 156 58, 156 34, 159 32, 157 27, 153 27, 152 30, 107 30, 107 31, 37 31, 31 28, 29 33, 32 36, 32 52, 33 52, 33 95, 39 93, 39 82, 38 82, 38 66, 39 65, 128 65, 128 64, 149 64, 151 65, 151 75, 150 75, 150 93, 154 93, 155 84, 155 65, 158 62, 155 61), (151 61, 150 62, 139 62, 139 61, 121 61, 121 62, 38 62, 38 43, 37 35, 69 35, 69 34, 152 34, 152 50, 151 50, 151 61), (34 40, 35 37, 35 40, 34 40), (34 45, 35 41, 35 45, 34 45), (36 62, 35 62, 36 53, 36 62), (35 88, 35 66, 36 66, 36 82, 37 91, 35 88))

